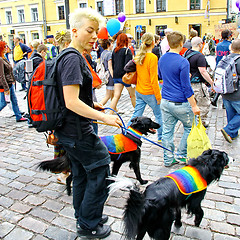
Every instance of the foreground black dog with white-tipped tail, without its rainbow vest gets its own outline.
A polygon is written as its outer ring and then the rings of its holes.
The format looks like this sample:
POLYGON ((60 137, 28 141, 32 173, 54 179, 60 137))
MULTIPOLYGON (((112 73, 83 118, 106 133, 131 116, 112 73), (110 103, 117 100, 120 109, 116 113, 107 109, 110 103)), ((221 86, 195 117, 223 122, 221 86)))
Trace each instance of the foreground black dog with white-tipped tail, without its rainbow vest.
MULTIPOLYGON (((211 182, 219 180, 228 162, 227 154, 218 150, 207 150, 198 158, 190 159, 188 162, 190 167, 187 166, 185 169, 195 169, 205 183, 203 190, 190 195, 183 194, 175 181, 169 177, 153 182, 143 193, 133 183, 130 186, 128 180, 124 186, 131 187, 123 217, 126 238, 141 240, 147 232, 155 240, 169 239, 173 221, 175 220, 177 228, 182 226, 183 207, 186 207, 188 214, 195 215, 195 226, 199 226, 203 218, 201 201, 205 196, 206 187, 211 182)), ((110 188, 116 189, 118 184, 123 185, 121 181, 119 183, 116 181, 110 188)))

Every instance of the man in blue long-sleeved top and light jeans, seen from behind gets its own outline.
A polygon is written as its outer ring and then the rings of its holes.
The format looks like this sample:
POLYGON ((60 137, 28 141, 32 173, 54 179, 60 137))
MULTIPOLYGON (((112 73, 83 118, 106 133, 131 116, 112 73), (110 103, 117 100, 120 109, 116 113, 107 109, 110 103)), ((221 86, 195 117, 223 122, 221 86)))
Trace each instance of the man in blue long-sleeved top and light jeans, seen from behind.
POLYGON ((164 150, 164 165, 170 167, 178 163, 177 160, 186 162, 187 137, 191 131, 193 117, 200 114, 200 109, 194 99, 190 83, 189 62, 179 55, 183 48, 184 36, 180 32, 172 32, 167 36, 167 40, 170 50, 158 62, 158 74, 163 80, 161 101, 163 146, 174 151, 175 126, 178 121, 181 121, 184 127, 184 133, 177 149, 181 157, 175 159, 172 152, 164 150))

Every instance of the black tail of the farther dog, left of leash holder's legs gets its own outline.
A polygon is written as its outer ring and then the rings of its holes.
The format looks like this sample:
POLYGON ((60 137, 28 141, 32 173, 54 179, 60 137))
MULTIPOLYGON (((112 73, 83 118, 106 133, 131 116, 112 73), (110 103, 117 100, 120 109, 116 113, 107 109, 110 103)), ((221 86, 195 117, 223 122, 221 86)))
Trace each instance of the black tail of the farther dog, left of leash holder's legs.
POLYGON ((43 171, 51 171, 53 173, 60 173, 62 171, 70 170, 70 161, 67 154, 57 157, 53 160, 42 161, 37 165, 37 168, 43 171))

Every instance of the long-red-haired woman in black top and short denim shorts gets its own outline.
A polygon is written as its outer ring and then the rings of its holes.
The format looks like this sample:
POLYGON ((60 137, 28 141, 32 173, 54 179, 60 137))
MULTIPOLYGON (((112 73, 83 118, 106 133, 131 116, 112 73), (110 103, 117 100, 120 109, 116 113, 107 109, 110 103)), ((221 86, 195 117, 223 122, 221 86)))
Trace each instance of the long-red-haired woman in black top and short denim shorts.
MULTIPOLYGON (((117 103, 121 97, 123 88, 126 87, 133 107, 136 105, 135 88, 122 81, 123 75, 126 73, 124 66, 132 59, 132 52, 128 48, 128 37, 125 33, 121 33, 117 37, 117 46, 112 53, 112 67, 114 80, 114 96, 110 104, 110 108, 117 110, 117 103)), ((113 114, 112 111, 110 111, 113 114)))

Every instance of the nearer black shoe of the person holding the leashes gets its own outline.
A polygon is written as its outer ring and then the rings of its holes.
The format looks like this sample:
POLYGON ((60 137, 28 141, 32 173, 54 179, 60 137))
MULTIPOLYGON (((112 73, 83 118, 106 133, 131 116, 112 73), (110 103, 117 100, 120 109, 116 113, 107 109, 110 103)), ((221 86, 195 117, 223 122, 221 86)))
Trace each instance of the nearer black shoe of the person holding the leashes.
POLYGON ((111 228, 108 225, 98 225, 94 230, 82 229, 81 227, 77 230, 77 235, 85 239, 101 239, 107 237, 110 233, 111 228))

